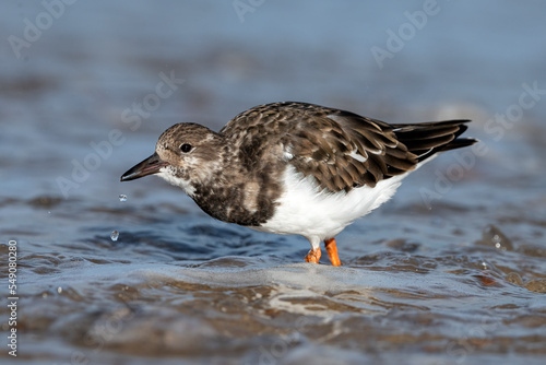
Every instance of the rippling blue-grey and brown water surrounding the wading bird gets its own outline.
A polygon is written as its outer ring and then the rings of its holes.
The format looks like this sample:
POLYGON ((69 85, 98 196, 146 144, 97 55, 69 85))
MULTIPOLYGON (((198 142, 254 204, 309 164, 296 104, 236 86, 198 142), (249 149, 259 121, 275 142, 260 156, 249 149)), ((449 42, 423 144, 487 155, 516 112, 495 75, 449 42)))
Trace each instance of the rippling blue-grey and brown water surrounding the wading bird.
POLYGON ((372 47, 422 1, 252 7, 80 1, 17 58, 7 37, 46 10, 3 4, 0 264, 16 247, 19 348, 1 305, 2 364, 542 364, 545 5, 439 1, 382 62, 372 47), (119 182, 175 122, 219 129, 286 99, 471 118, 482 142, 345 229, 340 268, 158 178, 119 182))

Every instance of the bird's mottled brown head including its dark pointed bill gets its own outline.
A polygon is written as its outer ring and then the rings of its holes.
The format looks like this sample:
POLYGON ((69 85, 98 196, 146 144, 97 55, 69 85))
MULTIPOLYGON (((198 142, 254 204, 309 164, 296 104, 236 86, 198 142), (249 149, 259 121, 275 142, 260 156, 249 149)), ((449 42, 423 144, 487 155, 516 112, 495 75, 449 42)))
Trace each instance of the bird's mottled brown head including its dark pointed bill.
POLYGON ((221 134, 200 125, 178 123, 163 132, 154 154, 127 170, 121 181, 156 174, 192 196, 195 184, 222 169, 226 152, 221 134))

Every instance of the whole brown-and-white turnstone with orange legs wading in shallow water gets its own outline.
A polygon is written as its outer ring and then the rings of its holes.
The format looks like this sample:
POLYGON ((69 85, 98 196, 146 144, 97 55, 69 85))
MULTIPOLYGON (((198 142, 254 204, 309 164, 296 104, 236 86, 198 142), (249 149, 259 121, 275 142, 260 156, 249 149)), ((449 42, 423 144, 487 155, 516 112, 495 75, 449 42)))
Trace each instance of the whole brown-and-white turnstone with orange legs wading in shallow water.
POLYGON ((468 121, 389 125, 313 104, 265 104, 219 132, 190 122, 168 128, 121 181, 156 174, 217 220, 306 237, 307 262, 319 262, 324 240, 339 266, 334 237, 439 152, 474 144, 459 138, 468 121))

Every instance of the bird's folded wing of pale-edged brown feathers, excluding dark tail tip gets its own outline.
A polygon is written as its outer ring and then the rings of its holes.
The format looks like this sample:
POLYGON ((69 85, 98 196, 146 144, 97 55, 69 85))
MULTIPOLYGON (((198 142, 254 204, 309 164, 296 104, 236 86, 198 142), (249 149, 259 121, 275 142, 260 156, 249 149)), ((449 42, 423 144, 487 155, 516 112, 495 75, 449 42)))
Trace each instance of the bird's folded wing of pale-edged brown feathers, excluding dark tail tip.
POLYGON ((335 109, 305 115, 286 144, 296 169, 330 191, 375 187, 418 162, 389 125, 335 109))

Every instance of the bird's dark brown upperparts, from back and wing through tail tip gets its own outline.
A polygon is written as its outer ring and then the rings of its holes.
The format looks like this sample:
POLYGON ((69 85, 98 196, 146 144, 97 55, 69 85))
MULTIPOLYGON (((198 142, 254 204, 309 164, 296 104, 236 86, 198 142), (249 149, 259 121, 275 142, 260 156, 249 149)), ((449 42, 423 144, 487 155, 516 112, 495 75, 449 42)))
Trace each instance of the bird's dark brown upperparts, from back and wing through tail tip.
POLYGON ((264 164, 273 155, 314 177, 321 189, 336 192, 375 187, 437 152, 475 143, 458 139, 467 121, 389 125, 349 111, 286 102, 244 111, 221 133, 240 145, 241 161, 249 166, 264 164))

